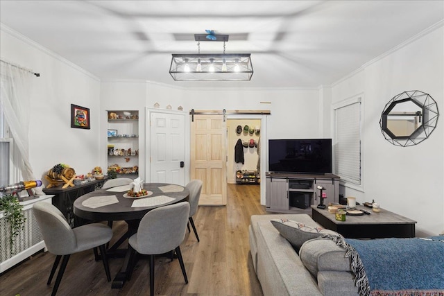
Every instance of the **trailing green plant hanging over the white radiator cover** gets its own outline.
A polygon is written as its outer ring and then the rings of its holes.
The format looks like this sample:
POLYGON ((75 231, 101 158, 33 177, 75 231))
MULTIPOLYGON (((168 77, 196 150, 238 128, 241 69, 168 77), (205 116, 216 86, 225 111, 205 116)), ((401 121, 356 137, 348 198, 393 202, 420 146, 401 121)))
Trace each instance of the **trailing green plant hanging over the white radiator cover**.
POLYGON ((0 198, 0 211, 4 212, 3 218, 9 226, 9 250, 11 254, 15 238, 25 227, 26 218, 22 209, 22 204, 19 203, 19 200, 14 195, 3 195, 0 198))

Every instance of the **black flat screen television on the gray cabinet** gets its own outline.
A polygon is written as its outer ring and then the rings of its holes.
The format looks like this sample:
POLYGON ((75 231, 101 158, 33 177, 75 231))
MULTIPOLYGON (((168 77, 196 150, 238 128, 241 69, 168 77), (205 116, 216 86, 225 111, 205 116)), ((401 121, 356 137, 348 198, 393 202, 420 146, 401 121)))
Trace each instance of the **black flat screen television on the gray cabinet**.
POLYGON ((270 139, 268 171, 332 173, 332 139, 270 139))

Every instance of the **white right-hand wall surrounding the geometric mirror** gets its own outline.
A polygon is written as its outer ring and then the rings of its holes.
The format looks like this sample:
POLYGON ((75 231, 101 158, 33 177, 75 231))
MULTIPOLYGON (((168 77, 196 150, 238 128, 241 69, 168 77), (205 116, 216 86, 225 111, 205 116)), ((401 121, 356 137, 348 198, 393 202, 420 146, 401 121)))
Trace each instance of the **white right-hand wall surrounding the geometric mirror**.
POLYGON ((429 139, 400 147, 384 139, 379 119, 393 96, 415 89, 430 94, 443 112, 443 36, 441 24, 332 87, 332 103, 363 95, 364 191, 347 187, 341 191, 359 202, 374 199, 384 209, 417 220, 417 236, 436 235, 444 229, 443 120, 438 120, 429 139))

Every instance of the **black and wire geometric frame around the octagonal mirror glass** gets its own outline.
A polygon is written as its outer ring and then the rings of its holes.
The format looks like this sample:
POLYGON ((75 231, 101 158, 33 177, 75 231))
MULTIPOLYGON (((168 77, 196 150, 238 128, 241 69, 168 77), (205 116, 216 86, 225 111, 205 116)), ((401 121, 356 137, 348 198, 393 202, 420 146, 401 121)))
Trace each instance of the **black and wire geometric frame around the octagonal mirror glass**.
POLYGON ((381 114, 381 119, 379 120, 379 125, 384 138, 393 145, 402 147, 413 146, 430 137, 430 134, 432 134, 436 128, 436 123, 438 123, 438 116, 438 105, 436 105, 432 96, 425 92, 413 90, 402 92, 386 103, 381 114), (397 104, 409 101, 415 103, 420 108, 421 114, 418 115, 420 116, 422 125, 414 130, 409 136, 396 136, 387 127, 387 116, 397 104))

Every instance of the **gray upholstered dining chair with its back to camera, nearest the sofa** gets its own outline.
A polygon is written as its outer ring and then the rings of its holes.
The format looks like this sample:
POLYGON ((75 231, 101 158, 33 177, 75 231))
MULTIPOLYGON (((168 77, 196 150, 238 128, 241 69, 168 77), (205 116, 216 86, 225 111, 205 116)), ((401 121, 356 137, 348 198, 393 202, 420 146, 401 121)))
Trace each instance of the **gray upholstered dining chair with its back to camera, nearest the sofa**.
POLYGON ((180 252, 180 244, 184 240, 187 230, 188 216, 188 202, 158 207, 145 214, 140 221, 137 233, 128 240, 130 247, 132 247, 130 256, 132 266, 134 266, 136 252, 150 255, 151 296, 154 295, 154 261, 157 254, 176 250, 185 283, 188 284, 187 272, 180 252))

